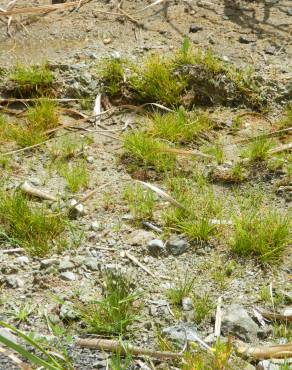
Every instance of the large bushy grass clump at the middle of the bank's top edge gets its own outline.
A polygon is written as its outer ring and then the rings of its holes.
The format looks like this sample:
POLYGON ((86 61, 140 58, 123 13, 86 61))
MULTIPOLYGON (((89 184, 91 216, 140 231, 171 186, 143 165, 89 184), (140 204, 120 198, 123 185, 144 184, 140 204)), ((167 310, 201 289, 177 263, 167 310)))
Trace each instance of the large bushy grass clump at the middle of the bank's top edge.
POLYGON ((187 86, 187 80, 174 73, 170 60, 151 56, 129 79, 134 97, 141 102, 157 102, 178 106, 187 86))

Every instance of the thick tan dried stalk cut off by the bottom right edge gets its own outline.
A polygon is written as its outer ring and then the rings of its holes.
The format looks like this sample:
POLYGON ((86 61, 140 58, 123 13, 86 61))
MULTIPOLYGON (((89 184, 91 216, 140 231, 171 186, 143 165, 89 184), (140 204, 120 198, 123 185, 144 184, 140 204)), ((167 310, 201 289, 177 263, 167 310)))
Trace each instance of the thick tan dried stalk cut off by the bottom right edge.
POLYGON ((265 347, 251 347, 243 343, 238 343, 236 352, 239 355, 253 357, 257 360, 289 358, 292 357, 292 343, 265 347))

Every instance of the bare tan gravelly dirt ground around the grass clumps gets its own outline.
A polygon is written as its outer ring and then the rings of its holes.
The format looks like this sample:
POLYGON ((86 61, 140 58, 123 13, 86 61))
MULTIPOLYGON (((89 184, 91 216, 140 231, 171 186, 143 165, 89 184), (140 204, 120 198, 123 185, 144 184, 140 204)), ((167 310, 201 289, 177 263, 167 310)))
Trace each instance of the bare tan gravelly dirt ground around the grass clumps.
MULTIPOLYGON (((5 9, 8 3, 9 0, 0 0, 0 8, 5 9)), ((20 0, 14 9, 47 4, 51 2, 20 0)), ((94 65, 99 64, 101 58, 114 53, 129 57, 139 64, 141 58, 149 53, 167 55, 173 52, 182 45, 184 37, 187 36, 194 48, 196 46, 203 49, 211 48, 226 62, 234 62, 238 66, 252 65, 255 71, 266 79, 277 80, 279 85, 287 89, 289 100, 289 91, 292 94, 291 1, 170 0, 145 10, 143 9, 149 6, 151 1, 124 0, 120 4, 119 9, 118 1, 92 0, 81 6, 79 10, 16 16, 12 19, 10 36, 6 32, 6 20, 1 17, 0 69, 11 68, 17 63, 40 64, 44 61, 48 61, 52 66, 84 63, 90 65, 92 69, 94 65)), ((61 76, 63 83, 66 83, 66 78, 70 77, 63 77, 62 70, 58 72, 58 76, 61 76)), ((0 91, 1 98, 2 95, 0 91)), ((68 94, 66 97, 69 97, 68 94)), ((80 110, 78 105, 72 105, 72 107, 80 110)), ((269 112, 269 119, 279 117, 281 109, 281 104, 275 105, 274 110, 269 112)), ((241 112, 235 107, 228 112, 221 111, 218 114, 221 115, 220 120, 226 122, 228 115, 241 112)), ((64 115, 63 119, 69 118, 64 115)), ((135 115, 125 113, 118 118, 102 119, 101 123, 112 130, 112 135, 120 137, 129 122, 135 125, 137 121, 135 115)), ((266 125, 267 121, 262 117, 247 117, 245 129, 239 132, 238 137, 226 136, 225 132, 222 132, 222 140, 230 145, 238 138, 242 139, 247 132, 251 131, 251 128, 254 129, 254 126, 262 132, 266 125)), ((92 125, 84 127, 94 128, 92 125)), ((85 134, 83 136, 82 131, 80 132, 76 135, 83 139, 85 134)), ((291 138, 288 138, 287 142, 290 141, 291 138)), ((236 156, 234 147, 236 145, 231 146, 226 153, 228 160, 236 156)), ((6 150, 6 147, 4 149, 6 150)), ((27 321, 20 324, 20 329, 51 335, 44 311, 59 322, 60 301, 74 299, 77 292, 81 301, 84 299, 85 302, 95 294, 100 295, 102 271, 105 266, 111 267, 115 264, 131 275, 137 287, 144 292, 143 312, 138 322, 131 327, 131 341, 149 348, 157 349, 157 327, 164 328, 181 321, 181 317, 177 319, 176 313, 173 314, 171 311, 164 294, 167 284, 173 279, 173 271, 180 275, 183 271, 192 271, 196 275, 195 291, 199 294, 208 294, 214 302, 222 296, 225 308, 231 304, 240 304, 252 312, 258 306, 265 307, 259 295, 262 288, 269 284, 277 292, 291 295, 291 286, 289 287, 291 251, 289 250, 277 269, 262 269, 257 261, 250 259, 237 260, 236 272, 232 273, 224 284, 222 282, 222 287, 218 287, 220 277, 218 278, 216 271, 225 267, 229 256, 220 246, 213 248, 194 245, 191 250, 180 256, 164 258, 149 256, 147 242, 159 238, 160 235, 143 230, 141 227, 137 229, 129 222, 129 209, 122 199, 122 189, 125 184, 131 184, 133 180, 125 166, 118 161, 121 152, 119 140, 99 135, 98 132, 92 135, 92 142, 86 146, 85 157, 91 175, 89 190, 101 187, 102 191, 86 203, 85 215, 74 221, 84 232, 82 245, 77 249, 65 251, 61 256, 48 257, 54 260, 49 270, 43 269, 40 258, 29 257, 28 262, 21 262, 22 253, 2 253, 0 249, 1 320, 11 319, 15 307, 21 307, 23 303, 30 302, 34 306, 34 311, 27 321), (96 221, 99 226, 95 230, 92 224, 96 221), (135 255, 153 272, 154 277, 125 258, 124 250, 135 255), (87 257, 94 257, 97 260, 96 270, 84 265, 87 257), (74 281, 64 281, 59 277, 56 266, 59 260, 66 260, 66 258, 73 261, 72 270, 76 275, 74 281), (7 276, 16 277, 21 280, 21 283, 13 286, 13 281, 10 280, 9 285, 6 281, 7 276)), ((48 171, 50 160, 45 150, 13 156, 14 171, 8 182, 8 189, 28 179, 53 194, 64 194, 64 181, 54 171, 48 171)), ((262 191, 274 195, 273 186, 277 180, 277 176, 267 176, 264 179, 262 191)), ((218 193, 228 193, 225 186, 215 185, 215 189, 218 193)), ((276 204, 277 207, 287 210, 291 206, 291 201, 279 196, 276 198, 276 204)), ((3 248, 9 249, 10 246, 6 245, 3 248)), ((215 313, 199 328, 202 338, 207 338, 213 333, 214 315, 215 313)), ((185 321, 188 320, 185 319, 185 321)), ((12 322, 14 322, 13 318, 12 322)), ((74 330, 73 327, 75 335, 74 330)), ((257 338, 254 344, 273 343, 273 341, 274 338, 266 331, 263 338, 257 338)), ((70 348, 70 350, 75 358, 76 369, 107 368, 107 356, 104 353, 81 351, 76 348, 70 348)), ((150 362, 146 361, 146 363, 149 367, 144 369, 154 368, 151 367, 150 362)), ((0 369, 6 370, 8 367, 12 369, 12 366, 10 362, 6 362, 6 359, 1 358, 0 354, 0 369)), ((139 361, 135 366, 133 369, 143 369, 139 361)), ((161 363, 157 366, 161 366, 157 369, 175 369, 175 367, 167 367, 166 364, 162 367, 161 363)), ((247 363, 241 366, 242 369, 248 369, 247 363)), ((249 369, 255 369, 253 365, 251 366, 249 369)))

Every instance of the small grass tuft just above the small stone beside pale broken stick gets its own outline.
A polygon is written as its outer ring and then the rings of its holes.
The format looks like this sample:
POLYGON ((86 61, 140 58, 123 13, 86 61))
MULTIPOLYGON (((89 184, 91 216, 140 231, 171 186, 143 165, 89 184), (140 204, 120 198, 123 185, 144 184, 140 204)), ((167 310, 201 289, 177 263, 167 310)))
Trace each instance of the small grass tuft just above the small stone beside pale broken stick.
POLYGON ((67 187, 72 193, 88 187, 89 173, 84 160, 62 164, 60 174, 64 177, 67 187))

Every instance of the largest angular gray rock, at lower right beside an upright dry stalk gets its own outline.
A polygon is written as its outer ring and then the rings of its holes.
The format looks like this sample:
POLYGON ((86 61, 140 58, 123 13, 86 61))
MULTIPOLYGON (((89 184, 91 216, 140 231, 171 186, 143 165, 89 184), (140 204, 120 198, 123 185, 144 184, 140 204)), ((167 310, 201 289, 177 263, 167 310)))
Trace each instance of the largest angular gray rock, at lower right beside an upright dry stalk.
POLYGON ((224 335, 233 334, 245 341, 252 341, 260 331, 257 324, 249 316, 245 308, 239 304, 232 304, 222 319, 224 335))

